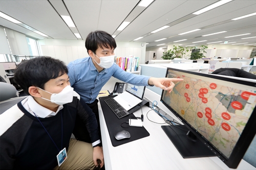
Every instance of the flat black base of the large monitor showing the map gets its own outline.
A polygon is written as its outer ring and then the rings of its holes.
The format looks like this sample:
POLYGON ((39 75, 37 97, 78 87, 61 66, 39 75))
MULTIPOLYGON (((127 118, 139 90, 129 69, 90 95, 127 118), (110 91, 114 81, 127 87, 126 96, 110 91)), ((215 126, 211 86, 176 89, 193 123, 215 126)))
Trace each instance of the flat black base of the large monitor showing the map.
MULTIPOLYGON (((161 126, 163 131, 173 142, 176 149, 179 151, 183 158, 199 158, 199 157, 209 157, 216 156, 211 152, 208 147, 194 134, 189 134, 187 137, 187 132, 189 131, 185 125, 175 125, 174 126, 161 126), (181 130, 181 129, 183 130, 181 130), (184 131, 186 130, 186 131, 184 131)), ((191 133, 191 132, 189 132, 191 133)))

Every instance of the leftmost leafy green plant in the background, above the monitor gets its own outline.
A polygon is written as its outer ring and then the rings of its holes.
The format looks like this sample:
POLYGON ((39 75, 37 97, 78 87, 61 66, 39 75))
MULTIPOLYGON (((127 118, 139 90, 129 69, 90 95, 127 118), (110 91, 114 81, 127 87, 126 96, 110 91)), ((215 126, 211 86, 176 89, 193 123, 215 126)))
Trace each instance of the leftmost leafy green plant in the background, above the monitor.
POLYGON ((182 58, 185 52, 188 52, 187 48, 184 48, 182 46, 177 47, 174 45, 173 50, 168 50, 167 52, 163 52, 163 56, 161 58, 164 60, 173 60, 174 58, 182 58))

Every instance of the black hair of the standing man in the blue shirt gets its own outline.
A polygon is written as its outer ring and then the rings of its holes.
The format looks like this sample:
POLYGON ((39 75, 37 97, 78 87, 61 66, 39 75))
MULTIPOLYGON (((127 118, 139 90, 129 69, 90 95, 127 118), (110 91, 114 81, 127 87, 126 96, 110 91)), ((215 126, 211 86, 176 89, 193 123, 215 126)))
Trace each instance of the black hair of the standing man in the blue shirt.
POLYGON ((95 54, 98 46, 102 49, 102 46, 115 49, 116 41, 109 33, 106 33, 104 31, 91 32, 86 38, 87 53, 89 50, 91 50, 95 54))

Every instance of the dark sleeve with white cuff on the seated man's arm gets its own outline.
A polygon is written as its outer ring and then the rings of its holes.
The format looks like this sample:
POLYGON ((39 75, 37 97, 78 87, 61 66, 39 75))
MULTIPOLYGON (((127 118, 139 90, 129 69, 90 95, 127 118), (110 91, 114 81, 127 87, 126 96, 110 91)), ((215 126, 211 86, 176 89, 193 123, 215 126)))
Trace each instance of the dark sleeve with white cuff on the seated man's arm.
POLYGON ((82 99, 77 100, 77 114, 83 123, 86 124, 87 130, 91 137, 93 146, 100 143, 98 123, 92 109, 82 99))

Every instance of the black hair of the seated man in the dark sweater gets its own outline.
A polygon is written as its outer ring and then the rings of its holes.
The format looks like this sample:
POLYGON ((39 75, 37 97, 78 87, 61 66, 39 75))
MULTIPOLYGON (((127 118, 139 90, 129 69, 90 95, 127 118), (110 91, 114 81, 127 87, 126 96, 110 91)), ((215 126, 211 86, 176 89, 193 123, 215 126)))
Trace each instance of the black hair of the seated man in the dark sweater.
POLYGON ((68 74, 68 68, 62 61, 51 57, 37 57, 18 64, 14 82, 29 94, 30 86, 45 89, 45 83, 65 73, 68 74))

